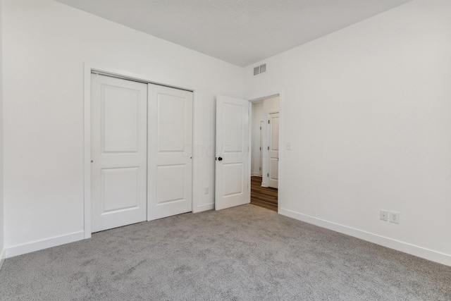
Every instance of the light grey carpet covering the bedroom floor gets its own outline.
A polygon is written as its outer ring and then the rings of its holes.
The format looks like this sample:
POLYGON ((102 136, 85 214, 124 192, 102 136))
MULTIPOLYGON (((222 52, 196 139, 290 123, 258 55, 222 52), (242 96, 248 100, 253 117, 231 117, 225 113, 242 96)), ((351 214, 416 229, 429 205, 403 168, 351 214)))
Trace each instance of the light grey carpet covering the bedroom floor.
POLYGON ((451 267, 247 204, 6 259, 0 300, 451 300, 451 267))

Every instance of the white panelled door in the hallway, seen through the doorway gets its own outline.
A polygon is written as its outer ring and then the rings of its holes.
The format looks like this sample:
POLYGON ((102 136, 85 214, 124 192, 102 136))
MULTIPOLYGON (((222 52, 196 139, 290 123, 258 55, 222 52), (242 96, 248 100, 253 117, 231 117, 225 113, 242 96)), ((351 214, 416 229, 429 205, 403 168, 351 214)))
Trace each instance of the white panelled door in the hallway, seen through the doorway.
POLYGON ((279 113, 268 114, 268 186, 278 188, 279 182, 279 113))

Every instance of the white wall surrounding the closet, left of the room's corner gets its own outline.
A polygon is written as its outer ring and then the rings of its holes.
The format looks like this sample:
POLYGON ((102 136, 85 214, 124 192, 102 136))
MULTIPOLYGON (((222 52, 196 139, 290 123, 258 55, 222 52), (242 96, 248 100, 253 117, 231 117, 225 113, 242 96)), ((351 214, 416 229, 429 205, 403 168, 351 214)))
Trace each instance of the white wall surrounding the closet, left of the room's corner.
POLYGON ((82 235, 85 61, 195 90, 195 209, 214 206, 214 99, 242 98, 242 68, 55 1, 4 0, 7 256, 82 235))

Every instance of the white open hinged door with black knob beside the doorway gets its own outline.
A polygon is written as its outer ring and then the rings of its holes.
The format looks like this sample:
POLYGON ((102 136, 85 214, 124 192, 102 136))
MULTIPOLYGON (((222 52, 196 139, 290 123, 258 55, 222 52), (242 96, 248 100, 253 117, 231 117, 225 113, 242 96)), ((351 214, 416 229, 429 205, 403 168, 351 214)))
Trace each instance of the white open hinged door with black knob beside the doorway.
POLYGON ((215 209, 250 202, 249 102, 216 98, 215 209))

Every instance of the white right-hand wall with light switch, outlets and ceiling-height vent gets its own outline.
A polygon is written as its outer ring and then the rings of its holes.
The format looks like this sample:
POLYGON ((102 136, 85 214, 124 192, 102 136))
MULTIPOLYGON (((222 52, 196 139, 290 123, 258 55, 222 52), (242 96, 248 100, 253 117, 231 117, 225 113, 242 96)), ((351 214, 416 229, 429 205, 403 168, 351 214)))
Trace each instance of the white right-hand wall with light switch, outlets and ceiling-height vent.
POLYGON ((412 1, 245 68, 246 99, 282 92, 280 213, 451 265, 450 16, 412 1))

